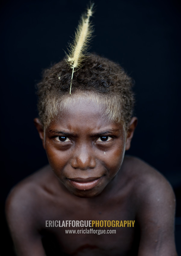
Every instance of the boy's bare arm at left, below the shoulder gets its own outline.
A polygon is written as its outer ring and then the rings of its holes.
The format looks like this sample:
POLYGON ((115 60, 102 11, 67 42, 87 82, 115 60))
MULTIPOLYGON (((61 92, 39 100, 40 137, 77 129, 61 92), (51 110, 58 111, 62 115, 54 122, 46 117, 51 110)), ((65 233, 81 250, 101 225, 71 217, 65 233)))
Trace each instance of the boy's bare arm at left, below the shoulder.
POLYGON ((18 256, 45 256, 35 214, 36 199, 30 192, 15 188, 6 201, 6 217, 18 256), (30 207, 31 206, 31 207, 30 207))

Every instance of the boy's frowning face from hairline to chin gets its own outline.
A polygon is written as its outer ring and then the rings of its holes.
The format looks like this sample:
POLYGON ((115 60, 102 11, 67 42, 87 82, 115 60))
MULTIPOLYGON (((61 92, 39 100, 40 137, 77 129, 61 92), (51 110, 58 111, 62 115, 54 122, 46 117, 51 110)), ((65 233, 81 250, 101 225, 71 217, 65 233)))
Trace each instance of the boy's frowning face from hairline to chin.
POLYGON ((45 134, 35 123, 52 170, 80 197, 98 195, 111 182, 133 136, 122 124, 103 118, 95 102, 86 99, 59 113, 45 134))

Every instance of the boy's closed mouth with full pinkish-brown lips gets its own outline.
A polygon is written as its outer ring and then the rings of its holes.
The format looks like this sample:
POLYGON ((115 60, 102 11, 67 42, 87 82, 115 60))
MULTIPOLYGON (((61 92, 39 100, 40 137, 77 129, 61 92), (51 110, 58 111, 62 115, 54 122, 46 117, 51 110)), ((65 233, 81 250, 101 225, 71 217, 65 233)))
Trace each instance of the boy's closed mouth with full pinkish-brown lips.
POLYGON ((96 177, 96 178, 74 178, 74 179, 68 179, 70 184, 79 190, 88 190, 88 189, 93 189, 95 186, 98 185, 98 183, 100 182, 102 176, 101 177, 96 177))

